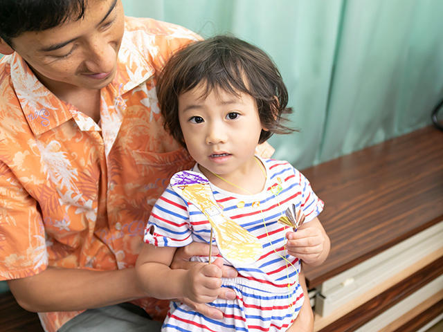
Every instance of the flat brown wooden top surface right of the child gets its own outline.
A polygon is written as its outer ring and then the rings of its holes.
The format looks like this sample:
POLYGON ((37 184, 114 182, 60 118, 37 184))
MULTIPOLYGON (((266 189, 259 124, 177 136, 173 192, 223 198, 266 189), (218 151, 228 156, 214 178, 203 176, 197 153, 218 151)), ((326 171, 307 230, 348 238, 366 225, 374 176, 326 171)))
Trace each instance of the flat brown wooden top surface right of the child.
POLYGON ((309 288, 443 220, 443 132, 429 126, 302 170, 325 201, 329 257, 309 288))

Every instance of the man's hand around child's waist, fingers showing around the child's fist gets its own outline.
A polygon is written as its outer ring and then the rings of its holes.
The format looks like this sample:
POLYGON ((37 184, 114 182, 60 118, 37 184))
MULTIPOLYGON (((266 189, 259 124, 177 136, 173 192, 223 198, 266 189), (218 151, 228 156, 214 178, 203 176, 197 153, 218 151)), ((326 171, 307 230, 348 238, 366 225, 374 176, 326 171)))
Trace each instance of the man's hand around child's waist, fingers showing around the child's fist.
MULTIPOLYGON (((216 246, 213 246, 212 255, 218 255, 219 250, 216 246)), ((181 268, 184 270, 189 270, 192 266, 201 264, 197 261, 190 261, 192 256, 209 256, 209 246, 205 243, 192 242, 190 245, 178 248, 175 252, 174 258, 172 259, 171 268, 181 268)), ((218 259, 217 259, 218 260, 218 259)), ((221 261, 221 259, 220 259, 221 261)), ((212 265, 212 264, 210 264, 212 265)), ((224 278, 235 278, 237 277, 237 271, 229 266, 223 266, 221 268, 222 277, 224 278)), ((232 289, 229 288, 219 288, 218 296, 221 299, 235 299, 237 295, 232 289)), ((197 303, 188 298, 180 299, 181 302, 190 306, 190 308, 198 311, 206 317, 213 318, 215 320, 220 320, 223 318, 223 314, 217 308, 208 306, 204 303, 197 303)))

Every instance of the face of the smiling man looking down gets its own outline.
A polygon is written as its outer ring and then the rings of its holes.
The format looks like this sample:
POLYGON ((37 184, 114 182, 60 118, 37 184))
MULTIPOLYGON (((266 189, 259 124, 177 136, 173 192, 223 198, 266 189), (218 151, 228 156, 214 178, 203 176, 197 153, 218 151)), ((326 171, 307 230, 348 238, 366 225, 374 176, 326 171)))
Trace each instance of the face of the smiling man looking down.
POLYGON ((55 95, 101 89, 116 75, 124 31, 120 0, 89 0, 84 17, 12 39, 12 46, 55 95))

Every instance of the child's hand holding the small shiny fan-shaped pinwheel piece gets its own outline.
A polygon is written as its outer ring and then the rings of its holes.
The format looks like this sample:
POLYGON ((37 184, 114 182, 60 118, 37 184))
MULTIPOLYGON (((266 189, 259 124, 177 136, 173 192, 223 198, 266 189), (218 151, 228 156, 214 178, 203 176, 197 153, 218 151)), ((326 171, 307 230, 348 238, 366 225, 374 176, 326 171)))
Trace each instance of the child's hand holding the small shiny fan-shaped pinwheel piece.
POLYGON ((329 254, 329 237, 318 219, 301 225, 297 232, 287 232, 289 255, 302 259, 308 265, 319 265, 329 254))

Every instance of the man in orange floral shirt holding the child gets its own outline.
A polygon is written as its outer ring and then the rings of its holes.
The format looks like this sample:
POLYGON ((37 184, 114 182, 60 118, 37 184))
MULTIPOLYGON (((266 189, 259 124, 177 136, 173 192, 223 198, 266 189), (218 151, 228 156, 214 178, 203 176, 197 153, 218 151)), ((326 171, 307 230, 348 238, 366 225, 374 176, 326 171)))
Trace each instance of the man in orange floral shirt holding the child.
MULTIPOLYGON (((157 331, 145 311, 167 304, 134 264, 152 204, 193 161, 163 130, 156 77, 199 37, 127 18, 120 0, 0 0, 0 37, 0 278, 46 331, 157 331)), ((329 251, 312 234, 310 253, 329 251)), ((174 268, 206 252, 185 248, 174 268)))

